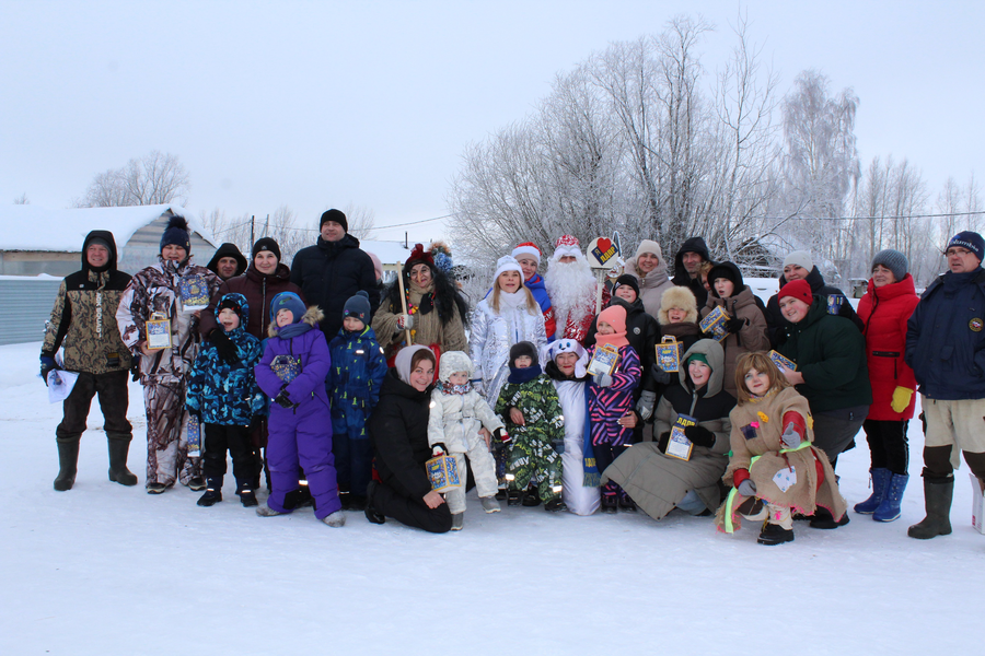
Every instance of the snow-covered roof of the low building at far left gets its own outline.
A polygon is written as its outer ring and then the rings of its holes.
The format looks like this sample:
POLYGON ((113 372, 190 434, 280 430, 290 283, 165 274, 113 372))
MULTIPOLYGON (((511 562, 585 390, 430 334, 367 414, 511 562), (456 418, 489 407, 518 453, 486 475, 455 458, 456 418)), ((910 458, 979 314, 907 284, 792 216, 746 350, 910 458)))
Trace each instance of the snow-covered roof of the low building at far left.
POLYGON ((46 210, 10 204, 0 206, 0 250, 79 253, 85 235, 93 230, 108 230, 116 238, 116 246, 123 248, 134 233, 167 210, 185 216, 193 231, 217 244, 195 213, 179 206, 46 210))

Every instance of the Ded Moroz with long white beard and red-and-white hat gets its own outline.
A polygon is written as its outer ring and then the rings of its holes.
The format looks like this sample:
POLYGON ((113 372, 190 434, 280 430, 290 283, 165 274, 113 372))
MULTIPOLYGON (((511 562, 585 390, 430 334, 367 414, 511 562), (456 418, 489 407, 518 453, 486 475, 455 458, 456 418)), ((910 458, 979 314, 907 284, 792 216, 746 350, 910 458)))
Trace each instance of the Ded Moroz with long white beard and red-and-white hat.
POLYGON ((544 284, 554 309, 555 339, 584 341, 595 314, 598 283, 577 237, 558 237, 544 284))

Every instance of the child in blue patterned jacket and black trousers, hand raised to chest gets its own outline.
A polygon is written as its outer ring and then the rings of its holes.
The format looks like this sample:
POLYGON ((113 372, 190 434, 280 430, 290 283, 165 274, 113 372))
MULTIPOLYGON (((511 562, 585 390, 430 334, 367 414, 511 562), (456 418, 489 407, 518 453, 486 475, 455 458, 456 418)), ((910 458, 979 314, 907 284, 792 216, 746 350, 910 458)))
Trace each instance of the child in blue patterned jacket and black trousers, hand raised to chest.
POLYGON ((222 501, 228 449, 233 459, 236 494, 244 506, 255 506, 253 479, 256 459, 250 440, 250 425, 263 414, 266 405, 253 373, 262 353, 260 341, 244 328, 243 321, 250 316, 250 306, 243 294, 224 294, 219 300, 216 314, 225 337, 236 348, 240 361, 227 364, 219 356, 216 345, 206 341, 192 366, 185 406, 188 414, 205 423, 201 468, 206 477, 206 492, 198 500, 198 505, 210 506, 222 501))

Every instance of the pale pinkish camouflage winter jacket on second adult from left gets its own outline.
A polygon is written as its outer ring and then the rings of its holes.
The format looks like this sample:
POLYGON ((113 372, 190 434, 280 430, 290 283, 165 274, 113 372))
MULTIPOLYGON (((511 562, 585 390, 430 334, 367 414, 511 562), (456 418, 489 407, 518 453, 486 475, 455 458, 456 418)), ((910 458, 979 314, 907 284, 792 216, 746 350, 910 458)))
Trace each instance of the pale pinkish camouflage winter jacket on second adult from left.
POLYGON ((219 277, 190 262, 167 261, 158 257, 158 263, 141 271, 130 280, 116 311, 116 323, 127 348, 139 358, 140 383, 181 384, 192 372, 198 354, 198 318, 183 312, 179 285, 186 276, 200 276, 209 288, 209 295, 219 291, 219 277), (140 345, 147 341, 147 321, 160 313, 171 321, 171 348, 142 354, 140 345))

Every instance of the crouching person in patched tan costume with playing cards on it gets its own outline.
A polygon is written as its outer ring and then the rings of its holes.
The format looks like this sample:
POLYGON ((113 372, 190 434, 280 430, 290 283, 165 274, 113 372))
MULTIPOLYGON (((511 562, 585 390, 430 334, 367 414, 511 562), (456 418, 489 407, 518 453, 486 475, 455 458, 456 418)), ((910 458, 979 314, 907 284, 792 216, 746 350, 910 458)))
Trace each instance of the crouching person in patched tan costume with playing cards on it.
POLYGON ((768 355, 743 353, 735 368, 739 405, 729 413, 732 456, 722 480, 734 487, 718 508, 720 530, 739 528, 738 515, 763 522, 761 544, 793 540, 791 512, 816 506, 837 520, 847 507, 827 456, 812 446, 813 419, 806 398, 768 355))

